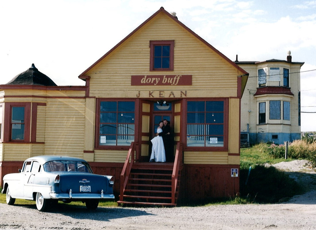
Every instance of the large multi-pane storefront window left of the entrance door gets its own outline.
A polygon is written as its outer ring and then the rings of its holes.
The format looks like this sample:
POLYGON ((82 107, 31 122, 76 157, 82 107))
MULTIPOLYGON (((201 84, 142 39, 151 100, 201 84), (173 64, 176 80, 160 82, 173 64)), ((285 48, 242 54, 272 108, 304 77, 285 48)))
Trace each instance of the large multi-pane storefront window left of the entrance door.
POLYGON ((130 146, 135 134, 134 101, 100 101, 98 146, 130 146))

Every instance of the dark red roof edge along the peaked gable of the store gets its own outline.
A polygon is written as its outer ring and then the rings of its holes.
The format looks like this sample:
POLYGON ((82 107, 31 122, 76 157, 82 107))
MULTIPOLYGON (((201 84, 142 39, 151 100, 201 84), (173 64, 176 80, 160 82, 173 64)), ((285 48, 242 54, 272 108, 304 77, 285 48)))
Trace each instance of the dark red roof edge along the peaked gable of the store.
POLYGON ((194 33, 190 28, 186 27, 182 22, 178 20, 176 16, 171 15, 168 13, 163 7, 161 7, 157 12, 155 12, 152 16, 150 16, 145 22, 143 22, 140 26, 138 26, 136 29, 134 29, 129 35, 127 35, 123 40, 121 40, 116 46, 114 46, 111 50, 109 50, 106 54, 104 54, 100 59, 98 59, 93 65, 91 65, 88 69, 82 72, 82 74, 79 75, 79 78, 85 81, 85 75, 88 71, 90 71, 95 65, 99 64, 106 56, 108 56, 112 51, 114 51, 117 47, 119 47, 125 40, 130 38, 133 34, 135 34, 140 28, 142 28, 146 23, 148 23, 150 20, 152 20, 156 15, 164 13, 169 18, 177 22, 180 26, 182 26, 184 29, 189 31, 193 36, 195 36, 198 40, 202 41, 206 46, 210 47, 215 53, 219 54, 223 59, 225 59, 229 64, 233 65, 236 69, 240 70, 240 72, 246 76, 249 74, 240 68, 238 65, 236 65, 232 60, 228 59, 224 54, 219 52, 216 48, 214 48, 212 45, 210 45, 207 41, 205 41, 203 38, 198 36, 196 33, 194 33))

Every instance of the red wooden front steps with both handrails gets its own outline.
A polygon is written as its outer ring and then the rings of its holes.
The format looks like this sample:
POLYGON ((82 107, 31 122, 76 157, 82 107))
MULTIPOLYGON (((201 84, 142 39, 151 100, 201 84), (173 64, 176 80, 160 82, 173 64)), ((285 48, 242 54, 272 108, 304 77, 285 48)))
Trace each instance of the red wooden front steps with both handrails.
POLYGON ((118 204, 176 206, 183 165, 180 143, 174 163, 135 162, 135 147, 133 142, 120 176, 118 204))

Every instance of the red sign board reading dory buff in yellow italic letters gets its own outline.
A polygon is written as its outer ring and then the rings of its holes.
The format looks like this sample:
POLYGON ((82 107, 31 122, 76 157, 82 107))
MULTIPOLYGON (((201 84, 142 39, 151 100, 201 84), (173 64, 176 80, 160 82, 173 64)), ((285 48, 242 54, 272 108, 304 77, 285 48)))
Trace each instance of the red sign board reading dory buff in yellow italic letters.
POLYGON ((192 75, 134 75, 131 85, 192 85, 192 75))

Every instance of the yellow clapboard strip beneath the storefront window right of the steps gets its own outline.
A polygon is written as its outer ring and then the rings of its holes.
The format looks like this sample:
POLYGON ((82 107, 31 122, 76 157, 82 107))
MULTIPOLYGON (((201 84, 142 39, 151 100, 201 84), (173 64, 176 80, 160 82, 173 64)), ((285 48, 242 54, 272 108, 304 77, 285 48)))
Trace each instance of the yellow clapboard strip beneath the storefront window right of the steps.
POLYGON ((189 152, 183 153, 184 164, 228 164, 228 152, 189 152))

